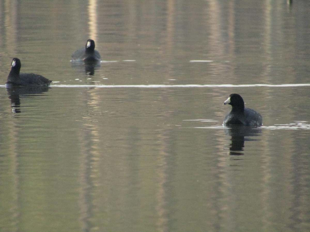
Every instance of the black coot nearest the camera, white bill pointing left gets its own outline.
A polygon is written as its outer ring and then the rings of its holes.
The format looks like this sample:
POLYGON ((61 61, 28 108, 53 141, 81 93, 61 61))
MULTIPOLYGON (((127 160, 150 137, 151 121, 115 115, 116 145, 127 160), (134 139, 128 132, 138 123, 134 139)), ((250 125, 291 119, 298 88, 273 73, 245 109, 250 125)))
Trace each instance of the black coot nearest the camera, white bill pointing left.
POLYGON ((255 110, 244 108, 242 97, 233 93, 224 101, 224 105, 231 105, 232 110, 225 116, 223 124, 240 124, 240 125, 262 125, 263 118, 255 110))

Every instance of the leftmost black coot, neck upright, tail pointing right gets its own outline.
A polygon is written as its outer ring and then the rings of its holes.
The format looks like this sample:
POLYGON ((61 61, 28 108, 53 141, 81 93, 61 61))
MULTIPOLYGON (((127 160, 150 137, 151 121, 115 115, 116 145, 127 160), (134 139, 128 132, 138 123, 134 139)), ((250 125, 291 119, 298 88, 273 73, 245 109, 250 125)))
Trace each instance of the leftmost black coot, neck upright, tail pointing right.
POLYGON ((6 84, 21 86, 48 86, 52 81, 44 76, 33 73, 20 73, 20 59, 13 58, 11 71, 7 77, 6 84))

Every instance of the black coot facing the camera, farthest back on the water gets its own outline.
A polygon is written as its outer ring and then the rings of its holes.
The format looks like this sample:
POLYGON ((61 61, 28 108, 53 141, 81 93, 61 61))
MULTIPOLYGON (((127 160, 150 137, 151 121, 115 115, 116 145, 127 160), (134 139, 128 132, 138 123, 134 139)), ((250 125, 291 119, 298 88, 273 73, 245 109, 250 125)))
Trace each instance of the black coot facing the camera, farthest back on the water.
POLYGON ((81 48, 72 54, 72 61, 98 62, 100 54, 95 50, 95 41, 87 40, 85 48, 81 48))

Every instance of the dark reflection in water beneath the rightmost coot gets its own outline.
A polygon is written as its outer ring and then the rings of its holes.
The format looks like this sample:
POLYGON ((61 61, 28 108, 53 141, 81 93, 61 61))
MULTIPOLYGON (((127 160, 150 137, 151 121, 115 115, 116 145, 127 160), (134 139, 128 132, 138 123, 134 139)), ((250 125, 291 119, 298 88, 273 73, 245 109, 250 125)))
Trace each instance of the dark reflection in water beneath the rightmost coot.
POLYGON ((229 147, 230 155, 244 155, 244 141, 255 141, 252 136, 259 136, 262 130, 259 126, 229 125, 224 129, 225 133, 231 136, 229 147))

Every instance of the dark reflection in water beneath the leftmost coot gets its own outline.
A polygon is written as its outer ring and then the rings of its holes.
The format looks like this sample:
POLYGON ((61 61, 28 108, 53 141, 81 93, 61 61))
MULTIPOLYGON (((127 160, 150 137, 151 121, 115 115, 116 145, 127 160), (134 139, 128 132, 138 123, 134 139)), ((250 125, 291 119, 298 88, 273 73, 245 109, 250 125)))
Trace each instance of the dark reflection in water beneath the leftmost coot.
POLYGON ((13 113, 20 113, 20 97, 31 97, 32 95, 47 92, 49 86, 14 86, 6 85, 7 93, 11 99, 11 107, 13 113))

